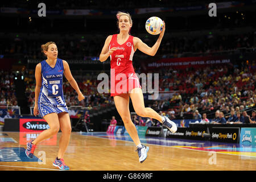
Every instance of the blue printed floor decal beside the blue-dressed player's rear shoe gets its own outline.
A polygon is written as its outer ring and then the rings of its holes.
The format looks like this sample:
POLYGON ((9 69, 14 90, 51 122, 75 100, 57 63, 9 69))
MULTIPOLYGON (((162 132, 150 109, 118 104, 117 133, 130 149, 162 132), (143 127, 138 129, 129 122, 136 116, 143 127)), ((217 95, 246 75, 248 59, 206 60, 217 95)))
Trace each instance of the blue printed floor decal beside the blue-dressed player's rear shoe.
POLYGON ((0 147, 0 162, 42 162, 36 156, 28 158, 25 151, 23 147, 0 147))

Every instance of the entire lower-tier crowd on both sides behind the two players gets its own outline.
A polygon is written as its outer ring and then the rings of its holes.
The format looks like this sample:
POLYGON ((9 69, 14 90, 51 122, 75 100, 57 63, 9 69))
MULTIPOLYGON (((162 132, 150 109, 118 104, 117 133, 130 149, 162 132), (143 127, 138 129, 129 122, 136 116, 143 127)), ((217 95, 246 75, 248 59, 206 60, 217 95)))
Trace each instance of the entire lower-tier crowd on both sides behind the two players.
MULTIPOLYGON (((256 65, 225 65, 224 67, 187 68, 187 69, 159 69, 159 90, 174 92, 173 96, 162 101, 152 101, 148 106, 161 115, 168 115, 170 119, 195 118, 201 119, 204 113, 210 119, 214 118, 216 110, 224 113, 228 121, 231 111, 237 113, 254 108, 256 103, 256 65)), ((25 71, 24 82, 28 106, 35 102, 34 70, 25 71)), ((14 78, 16 72, 0 71, 1 101, 0 105, 17 106, 14 78)), ((76 76, 74 75, 76 78, 76 76)), ((85 96, 79 102, 68 81, 63 80, 63 92, 67 106, 83 106, 92 109, 97 106, 114 104, 110 94, 97 92, 98 81, 89 78, 76 78, 85 96)), ((138 119, 140 125, 141 119, 138 119)), ((146 121, 143 122, 146 125, 146 121)))

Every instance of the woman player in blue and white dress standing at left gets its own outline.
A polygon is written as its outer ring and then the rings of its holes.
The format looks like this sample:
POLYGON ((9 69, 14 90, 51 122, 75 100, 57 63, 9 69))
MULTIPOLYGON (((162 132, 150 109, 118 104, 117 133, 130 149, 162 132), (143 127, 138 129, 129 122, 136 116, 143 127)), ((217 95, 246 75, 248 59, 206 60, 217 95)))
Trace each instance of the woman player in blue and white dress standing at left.
POLYGON ((69 167, 64 163, 63 156, 68 147, 71 135, 71 121, 68 107, 63 96, 63 75, 69 84, 76 90, 78 100, 84 99, 76 80, 73 78, 67 61, 57 58, 58 51, 54 42, 42 45, 42 52, 47 56, 46 60, 36 65, 35 78, 35 106, 34 115, 40 115, 46 120, 49 129, 44 130, 35 140, 27 143, 26 155, 32 158, 36 145, 44 139, 50 138, 61 130, 59 140, 59 152, 53 162, 53 166, 63 170, 69 167))

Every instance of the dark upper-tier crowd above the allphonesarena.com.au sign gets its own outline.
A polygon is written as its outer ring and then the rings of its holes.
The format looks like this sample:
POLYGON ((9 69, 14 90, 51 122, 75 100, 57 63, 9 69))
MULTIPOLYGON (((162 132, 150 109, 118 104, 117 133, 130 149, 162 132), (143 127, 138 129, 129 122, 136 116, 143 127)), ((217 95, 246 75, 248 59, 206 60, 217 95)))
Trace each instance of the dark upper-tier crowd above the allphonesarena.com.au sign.
MULTIPOLYGON (((150 44, 152 40, 146 39, 150 44)), ((183 36, 163 39, 162 46, 158 50, 163 57, 192 56, 193 53, 212 53, 221 51, 234 51, 239 48, 252 48, 256 46, 256 34, 250 32, 241 35, 201 35, 183 36), (191 53, 191 54, 189 54, 191 53)))

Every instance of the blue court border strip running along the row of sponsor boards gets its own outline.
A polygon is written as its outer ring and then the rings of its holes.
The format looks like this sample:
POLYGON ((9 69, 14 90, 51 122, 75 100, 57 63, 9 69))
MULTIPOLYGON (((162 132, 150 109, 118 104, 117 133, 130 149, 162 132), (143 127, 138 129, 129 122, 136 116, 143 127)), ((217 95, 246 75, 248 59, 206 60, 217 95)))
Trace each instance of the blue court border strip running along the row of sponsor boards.
MULTIPOLYGON (((105 132, 80 133, 92 137, 106 138, 110 140, 123 140, 133 142, 129 135, 114 135, 105 132)), ((189 140, 175 138, 159 138, 139 136, 143 144, 154 144, 158 146, 179 147, 188 150, 214 151, 222 154, 249 156, 256 159, 256 146, 242 146, 237 143, 212 142, 208 140, 189 140)))

